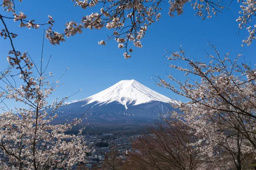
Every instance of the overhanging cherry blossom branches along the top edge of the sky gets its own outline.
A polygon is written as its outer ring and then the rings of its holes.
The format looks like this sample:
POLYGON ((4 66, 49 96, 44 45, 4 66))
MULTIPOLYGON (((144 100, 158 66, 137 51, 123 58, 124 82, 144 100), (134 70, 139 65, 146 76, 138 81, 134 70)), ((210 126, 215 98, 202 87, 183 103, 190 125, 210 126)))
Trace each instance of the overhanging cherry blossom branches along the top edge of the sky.
MULTIPOLYGON (((22 2, 22 0, 17 0, 22 2)), ((195 10, 195 15, 205 18, 211 18, 223 11, 224 8, 229 8, 228 5, 232 2, 225 0, 72 0, 74 6, 83 8, 93 7, 96 11, 90 15, 81 17, 81 22, 70 21, 65 24, 65 29, 62 33, 53 31, 52 27, 55 22, 51 16, 46 23, 35 23, 35 19, 27 20, 27 16, 19 11, 15 11, 14 0, 3 0, 2 7, 7 12, 1 12, 0 20, 4 24, 4 28, 0 35, 6 37, 5 20, 13 19, 15 22, 20 22, 20 27, 36 28, 40 26, 50 25, 47 29, 46 37, 53 45, 65 41, 65 37, 81 34, 83 29, 112 29, 113 34, 107 40, 99 41, 100 45, 106 45, 108 40, 114 39, 118 42, 118 48, 124 48, 125 58, 131 57, 132 48, 128 48, 128 44, 133 43, 135 47, 143 47, 141 39, 152 23, 160 20, 163 6, 169 6, 169 15, 174 17, 183 13, 183 6, 190 3, 195 10), (10 15, 12 14, 12 15, 10 15)), ((249 36, 243 40, 247 45, 250 45, 255 37, 256 25, 253 23, 256 11, 255 0, 238 0, 241 3, 241 11, 238 13, 239 29, 246 28, 249 31, 249 36)), ((166 11, 167 12, 167 11, 166 11)), ((12 33, 12 37, 16 37, 12 33)))

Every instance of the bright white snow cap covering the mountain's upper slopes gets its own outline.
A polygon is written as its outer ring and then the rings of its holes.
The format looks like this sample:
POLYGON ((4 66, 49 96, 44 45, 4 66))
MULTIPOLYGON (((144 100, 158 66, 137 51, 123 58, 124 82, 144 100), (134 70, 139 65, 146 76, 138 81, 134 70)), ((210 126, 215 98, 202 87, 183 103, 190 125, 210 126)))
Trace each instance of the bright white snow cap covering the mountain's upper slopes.
POLYGON ((140 105, 151 101, 173 102, 172 99, 151 90, 134 79, 122 80, 110 88, 80 101, 86 101, 85 105, 93 102, 100 103, 101 105, 119 102, 125 106, 125 109, 128 109, 128 105, 140 105))

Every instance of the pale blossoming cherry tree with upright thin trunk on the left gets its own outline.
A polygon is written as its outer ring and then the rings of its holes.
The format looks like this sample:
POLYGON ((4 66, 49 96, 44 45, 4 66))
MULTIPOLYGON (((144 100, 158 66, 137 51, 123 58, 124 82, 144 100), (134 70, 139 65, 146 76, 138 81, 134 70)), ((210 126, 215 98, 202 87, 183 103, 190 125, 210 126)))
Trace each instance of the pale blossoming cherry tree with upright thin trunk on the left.
MULTIPOLYGON (((9 36, 7 32, 6 37, 9 36)), ((15 51, 13 45, 12 47, 10 55, 13 57, 8 57, 10 66, 0 73, 1 84, 5 85, 0 87, 0 102, 5 104, 5 99, 12 100, 23 104, 24 108, 9 108, 6 104, 2 108, 0 151, 8 156, 9 163, 13 166, 0 162, 0 169, 64 169, 76 162, 84 161, 87 147, 81 136, 82 129, 78 135, 66 133, 74 125, 80 124, 81 118, 70 123, 51 124, 58 116, 56 109, 64 105, 69 98, 56 98, 52 103, 48 103, 47 100, 56 88, 62 85, 59 83, 62 76, 53 83, 50 82, 54 77, 52 72, 46 72, 49 61, 45 68, 43 66, 43 49, 38 67, 28 52, 21 54, 15 51), (52 108, 51 112, 47 113, 47 108, 52 108)))

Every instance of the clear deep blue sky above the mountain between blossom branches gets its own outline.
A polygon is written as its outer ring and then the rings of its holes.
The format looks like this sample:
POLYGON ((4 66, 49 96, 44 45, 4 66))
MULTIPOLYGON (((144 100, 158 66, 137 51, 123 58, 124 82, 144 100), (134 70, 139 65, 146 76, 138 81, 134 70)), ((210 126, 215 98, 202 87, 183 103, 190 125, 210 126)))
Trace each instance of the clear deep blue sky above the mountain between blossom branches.
MULTIPOLYGON (((71 100, 83 99, 96 94, 123 79, 136 79, 154 91, 165 96, 180 99, 171 91, 163 89, 154 84, 152 75, 160 74, 165 78, 164 70, 170 69, 164 62, 164 49, 178 51, 180 45, 186 51, 187 56, 203 59, 204 49, 207 49, 207 40, 216 44, 221 54, 233 49, 230 57, 236 56, 244 50, 243 54, 247 62, 255 64, 256 40, 249 47, 241 47, 241 41, 247 36, 247 30, 236 34, 239 16, 239 3, 233 1, 231 10, 224 10, 218 17, 201 20, 194 16, 195 11, 190 4, 186 4, 184 14, 169 17, 168 7, 161 11, 162 18, 159 22, 148 26, 146 36, 142 39, 143 48, 134 48, 132 57, 124 59, 123 49, 117 47, 118 43, 109 41, 107 45, 98 45, 98 41, 106 40, 107 34, 113 30, 83 30, 83 34, 70 37, 61 45, 51 45, 45 40, 44 57, 52 55, 48 72, 52 71, 55 77, 60 76, 66 68, 69 71, 62 79, 64 86, 55 92, 54 97, 69 96, 70 94, 82 91, 73 96, 71 100)), ((80 22, 81 17, 90 14, 93 9, 83 10, 74 7, 71 0, 38 1, 26 0, 22 3, 16 2, 16 11, 23 11, 29 20, 36 20, 35 23, 44 23, 51 15, 56 21, 53 29, 62 32, 67 21, 75 20, 80 22)), ((94 11, 95 12, 95 11, 94 11)), ((5 14, 1 12, 1 14, 5 14)), ((18 23, 6 20, 10 31, 18 34, 15 39, 15 47, 18 51, 28 51, 34 60, 39 61, 41 55, 41 44, 43 28, 39 30, 28 30, 19 28, 18 23)), ((1 25, 1 24, 0 24, 1 25)), ((1 29, 2 29, 1 25, 1 29)), ((8 40, 0 40, 0 68, 6 68, 6 56, 10 49, 8 40)), ((180 73, 173 73, 183 76, 180 73)))

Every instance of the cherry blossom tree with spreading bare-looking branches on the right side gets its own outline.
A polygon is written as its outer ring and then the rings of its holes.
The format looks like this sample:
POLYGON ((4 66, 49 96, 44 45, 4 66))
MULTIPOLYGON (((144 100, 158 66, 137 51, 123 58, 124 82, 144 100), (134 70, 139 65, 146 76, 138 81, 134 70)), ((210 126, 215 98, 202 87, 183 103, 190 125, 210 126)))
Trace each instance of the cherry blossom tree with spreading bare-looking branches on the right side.
POLYGON ((169 67, 184 72, 185 78, 168 74, 172 83, 158 77, 157 84, 188 100, 174 104, 171 116, 191 127, 198 142, 204 141, 200 153, 212 156, 215 147, 224 148, 241 170, 242 161, 256 151, 256 69, 241 62, 241 54, 231 60, 229 53, 221 57, 209 46, 215 54, 206 51, 208 63, 189 59, 182 48, 166 51, 167 59, 178 64, 169 67))

